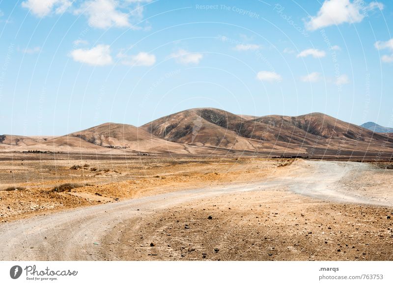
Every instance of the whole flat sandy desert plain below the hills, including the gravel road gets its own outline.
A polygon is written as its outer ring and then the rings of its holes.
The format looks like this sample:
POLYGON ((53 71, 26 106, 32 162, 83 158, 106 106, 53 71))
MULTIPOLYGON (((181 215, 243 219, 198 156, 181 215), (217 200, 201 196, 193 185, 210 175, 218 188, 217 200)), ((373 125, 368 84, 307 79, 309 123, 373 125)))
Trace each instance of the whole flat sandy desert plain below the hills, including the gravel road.
POLYGON ((393 260, 391 169, 2 154, 0 260, 393 260))

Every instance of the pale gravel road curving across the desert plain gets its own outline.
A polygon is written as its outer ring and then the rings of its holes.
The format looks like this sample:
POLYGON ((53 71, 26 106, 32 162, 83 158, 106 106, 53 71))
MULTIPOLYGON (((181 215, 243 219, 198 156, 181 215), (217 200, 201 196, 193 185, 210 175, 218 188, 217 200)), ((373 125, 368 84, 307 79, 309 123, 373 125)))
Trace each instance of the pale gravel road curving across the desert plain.
MULTIPOLYGON (((353 162, 296 161, 291 166, 278 168, 264 181, 255 177, 255 181, 246 185, 173 192, 3 223, 0 259, 104 260, 108 256, 116 259, 112 253, 124 246, 122 235, 136 230, 133 225, 143 219, 184 203, 189 206, 203 199, 228 195, 244 199, 247 193, 255 191, 280 190, 299 198, 302 195, 333 202, 392 207, 389 197, 385 200, 367 197, 345 186, 351 177, 359 177, 363 171, 370 171, 370 166, 353 162)), ((123 256, 123 259, 131 257, 123 256)))

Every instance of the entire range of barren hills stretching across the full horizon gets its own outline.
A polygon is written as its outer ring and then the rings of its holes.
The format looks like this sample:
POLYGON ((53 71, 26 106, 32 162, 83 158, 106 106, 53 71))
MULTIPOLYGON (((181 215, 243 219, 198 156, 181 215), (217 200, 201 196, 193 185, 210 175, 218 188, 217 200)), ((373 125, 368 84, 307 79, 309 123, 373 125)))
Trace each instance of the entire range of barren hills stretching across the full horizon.
POLYGON ((249 116, 199 108, 140 127, 105 123, 56 138, 2 135, 0 151, 372 160, 392 156, 393 132, 382 131, 393 130, 321 113, 249 116))

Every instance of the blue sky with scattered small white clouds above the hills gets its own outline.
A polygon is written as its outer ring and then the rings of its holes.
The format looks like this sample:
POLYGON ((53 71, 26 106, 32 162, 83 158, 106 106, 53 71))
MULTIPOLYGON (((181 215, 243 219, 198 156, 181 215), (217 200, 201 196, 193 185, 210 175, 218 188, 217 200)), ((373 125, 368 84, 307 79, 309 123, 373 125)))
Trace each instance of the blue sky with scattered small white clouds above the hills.
POLYGON ((0 0, 0 134, 191 108, 393 127, 390 0, 0 0))

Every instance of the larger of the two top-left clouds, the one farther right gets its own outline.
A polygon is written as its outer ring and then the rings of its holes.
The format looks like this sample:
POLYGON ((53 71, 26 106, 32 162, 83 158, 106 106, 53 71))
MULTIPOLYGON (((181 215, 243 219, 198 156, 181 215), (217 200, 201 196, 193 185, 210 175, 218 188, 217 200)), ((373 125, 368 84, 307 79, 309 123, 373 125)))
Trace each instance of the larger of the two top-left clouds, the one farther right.
POLYGON ((119 11, 118 2, 114 0, 85 1, 75 14, 85 14, 88 24, 94 28, 132 27, 129 15, 119 11))

